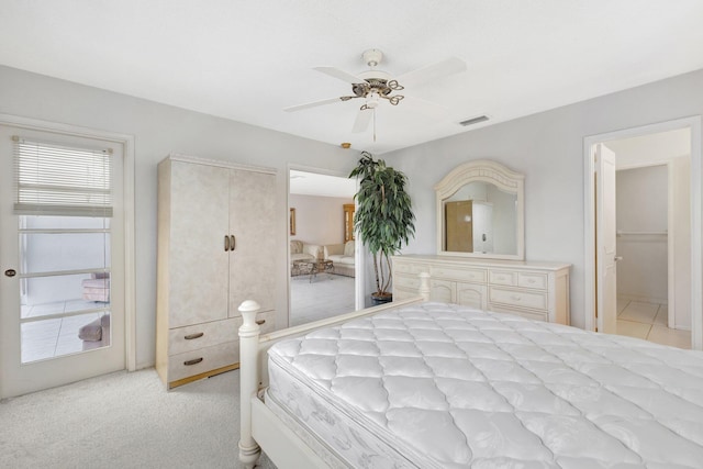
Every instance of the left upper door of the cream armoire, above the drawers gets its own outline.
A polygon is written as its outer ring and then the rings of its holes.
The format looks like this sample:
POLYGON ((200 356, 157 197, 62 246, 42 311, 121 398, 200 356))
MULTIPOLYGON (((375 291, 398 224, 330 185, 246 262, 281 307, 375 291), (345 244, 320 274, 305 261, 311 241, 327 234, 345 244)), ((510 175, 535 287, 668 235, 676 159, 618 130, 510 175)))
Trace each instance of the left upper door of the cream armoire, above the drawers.
POLYGON ((230 172, 172 161, 169 254, 170 327, 227 317, 230 172), (227 241, 228 243, 228 241, 227 241))

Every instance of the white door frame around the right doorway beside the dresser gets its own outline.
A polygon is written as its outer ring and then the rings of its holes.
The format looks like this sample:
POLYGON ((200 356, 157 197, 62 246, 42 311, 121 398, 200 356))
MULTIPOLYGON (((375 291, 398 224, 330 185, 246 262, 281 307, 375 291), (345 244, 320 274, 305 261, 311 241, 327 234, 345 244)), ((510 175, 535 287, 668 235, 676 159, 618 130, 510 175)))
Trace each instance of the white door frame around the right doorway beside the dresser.
POLYGON ((583 138, 583 320, 587 331, 595 331, 595 165, 591 147, 598 143, 631 138, 680 129, 691 132, 691 348, 703 350, 703 225, 701 210, 701 116, 677 119, 625 129, 583 138))

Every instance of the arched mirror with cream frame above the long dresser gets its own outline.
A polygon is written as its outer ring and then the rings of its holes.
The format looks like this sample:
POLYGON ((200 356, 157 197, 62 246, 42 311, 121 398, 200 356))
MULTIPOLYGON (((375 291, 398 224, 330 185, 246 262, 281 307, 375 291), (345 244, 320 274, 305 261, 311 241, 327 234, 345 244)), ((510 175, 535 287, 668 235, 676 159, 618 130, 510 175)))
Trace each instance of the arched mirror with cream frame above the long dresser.
POLYGON ((489 160, 456 167, 435 186, 437 254, 525 258, 525 176, 489 160))

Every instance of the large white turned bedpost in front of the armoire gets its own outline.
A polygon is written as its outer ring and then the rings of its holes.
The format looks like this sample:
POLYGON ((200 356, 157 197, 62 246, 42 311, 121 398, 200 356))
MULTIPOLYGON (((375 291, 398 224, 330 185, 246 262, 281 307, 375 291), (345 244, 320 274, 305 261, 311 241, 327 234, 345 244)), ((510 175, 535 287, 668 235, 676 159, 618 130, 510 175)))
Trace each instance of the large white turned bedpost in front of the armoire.
POLYGON ((261 448, 252 437, 252 398, 258 391, 257 351, 259 325, 256 313, 261 309, 256 301, 247 300, 239 305, 243 324, 239 327, 239 460, 253 469, 261 448))

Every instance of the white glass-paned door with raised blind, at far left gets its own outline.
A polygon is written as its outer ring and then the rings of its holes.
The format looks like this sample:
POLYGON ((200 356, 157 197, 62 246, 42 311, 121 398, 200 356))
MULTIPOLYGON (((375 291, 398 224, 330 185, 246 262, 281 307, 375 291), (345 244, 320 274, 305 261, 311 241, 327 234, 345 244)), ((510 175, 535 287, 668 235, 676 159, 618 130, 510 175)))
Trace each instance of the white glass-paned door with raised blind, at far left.
POLYGON ((0 398, 125 368, 122 164, 114 142, 0 125, 0 398), (29 186, 30 176, 20 179, 34 201, 16 203, 15 154, 27 161, 31 147, 36 179, 29 186), (110 169, 83 164, 89 153, 110 169), (96 189, 57 182, 64 179, 43 166, 47 160, 64 161, 52 168, 66 180, 82 174, 93 186, 111 172, 112 216, 104 202, 99 212, 93 203, 108 200, 109 190, 96 196, 96 189), (65 202, 53 200, 47 209, 44 191, 65 202), (71 198, 82 201, 82 211, 71 198))

